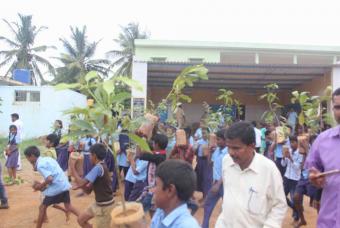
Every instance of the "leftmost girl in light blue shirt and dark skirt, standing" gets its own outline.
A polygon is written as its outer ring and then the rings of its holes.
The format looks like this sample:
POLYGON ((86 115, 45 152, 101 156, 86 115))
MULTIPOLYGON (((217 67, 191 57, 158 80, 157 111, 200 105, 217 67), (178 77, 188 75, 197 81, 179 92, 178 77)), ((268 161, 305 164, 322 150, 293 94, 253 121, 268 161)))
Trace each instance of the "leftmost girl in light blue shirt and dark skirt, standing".
POLYGON ((8 185, 13 185, 14 180, 17 178, 16 173, 19 159, 19 143, 20 139, 17 135, 17 127, 15 125, 11 125, 9 127, 8 144, 5 150, 5 154, 7 156, 5 166, 7 167, 8 175, 11 178, 8 185))

